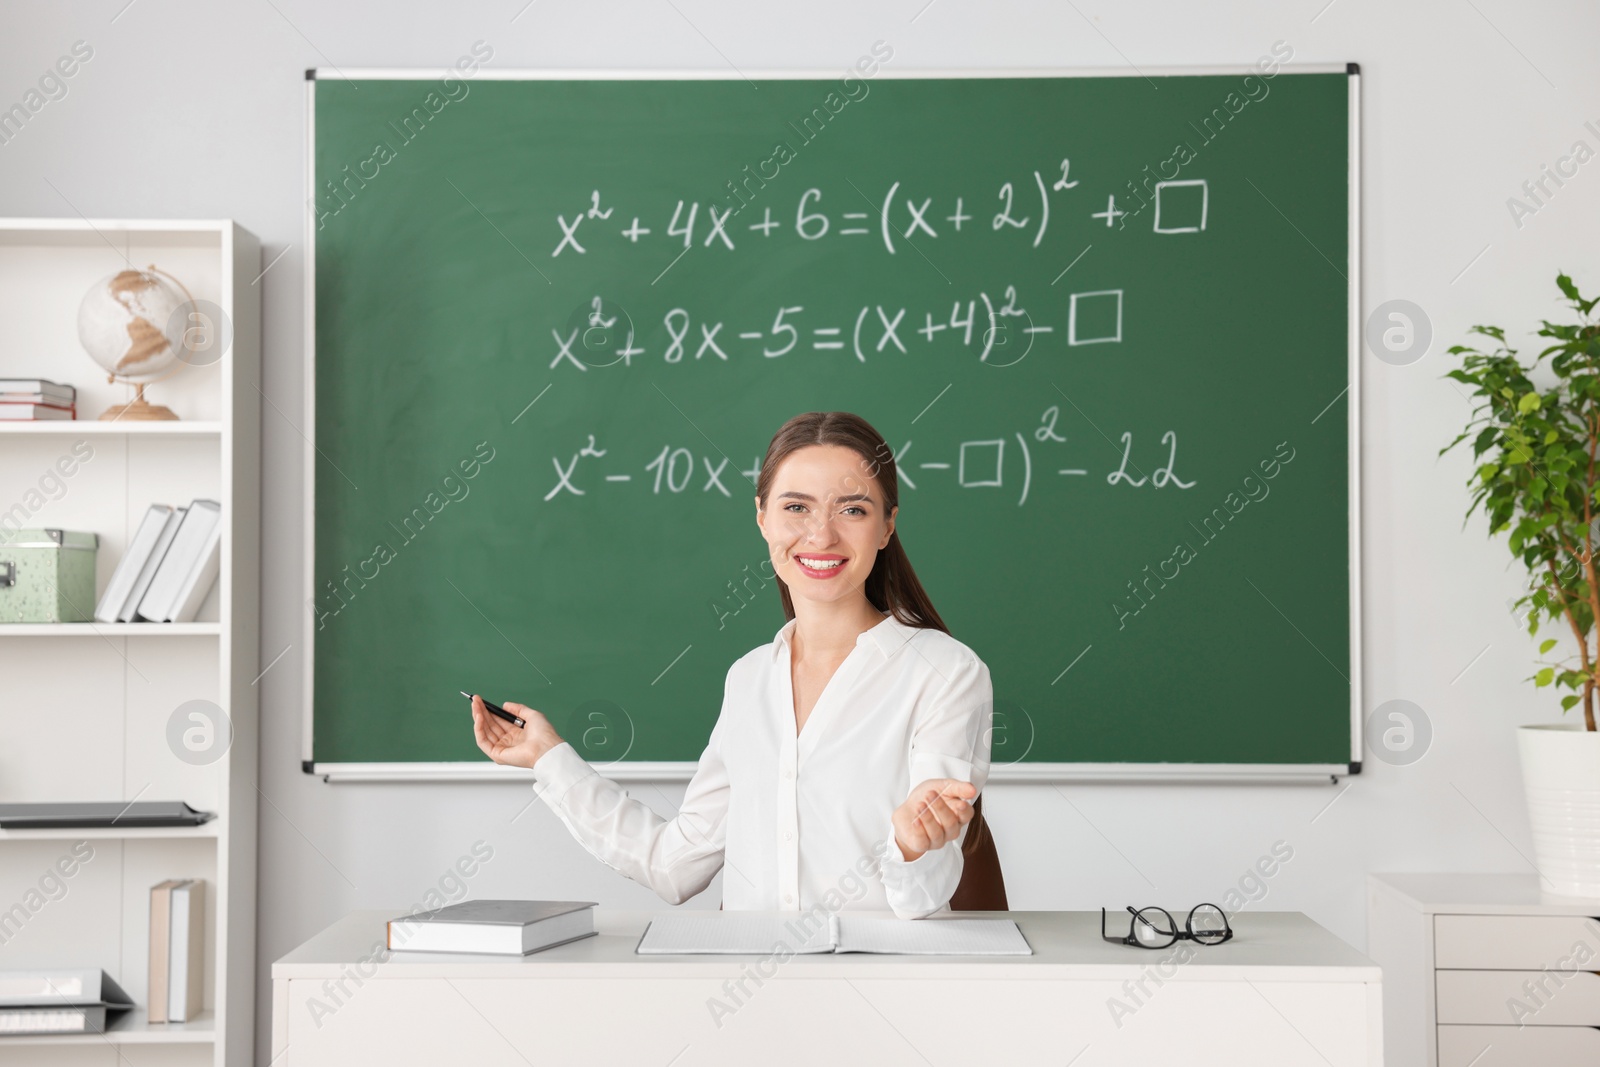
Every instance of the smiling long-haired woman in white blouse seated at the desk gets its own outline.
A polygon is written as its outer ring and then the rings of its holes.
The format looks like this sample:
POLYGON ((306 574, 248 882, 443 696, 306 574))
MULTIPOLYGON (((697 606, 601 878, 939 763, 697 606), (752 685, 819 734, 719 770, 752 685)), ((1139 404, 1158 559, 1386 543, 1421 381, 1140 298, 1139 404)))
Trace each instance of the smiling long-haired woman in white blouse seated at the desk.
POLYGON ((523 704, 506 704, 518 728, 472 697, 478 747, 533 768, 590 854, 672 904, 726 867, 730 909, 1003 910, 979 803, 989 667, 934 611, 898 514, 893 451, 866 419, 813 411, 773 437, 755 523, 787 622, 730 667, 677 816, 632 800, 523 704), (862 867, 872 875, 846 899, 840 878, 862 867))

